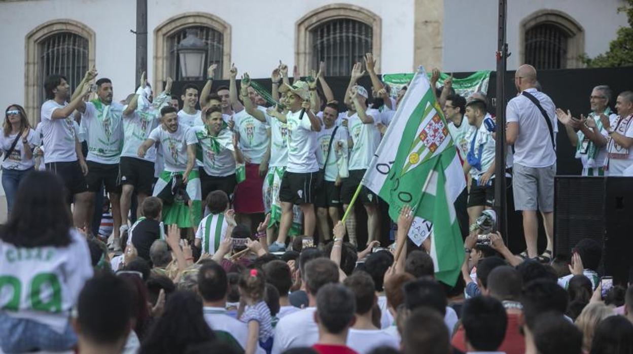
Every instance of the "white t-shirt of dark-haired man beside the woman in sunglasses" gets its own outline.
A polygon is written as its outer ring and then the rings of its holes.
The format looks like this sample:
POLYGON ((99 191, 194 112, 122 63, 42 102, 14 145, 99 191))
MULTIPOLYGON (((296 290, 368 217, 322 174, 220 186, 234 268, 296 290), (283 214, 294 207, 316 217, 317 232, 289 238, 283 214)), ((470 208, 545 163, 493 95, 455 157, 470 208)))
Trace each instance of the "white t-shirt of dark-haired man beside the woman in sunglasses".
POLYGON ((75 120, 72 115, 53 119, 55 110, 64 108, 68 103, 59 104, 53 99, 42 104, 42 142, 44 144, 44 162, 77 161, 75 151, 75 120))

